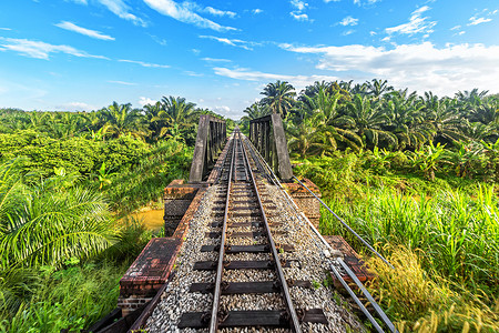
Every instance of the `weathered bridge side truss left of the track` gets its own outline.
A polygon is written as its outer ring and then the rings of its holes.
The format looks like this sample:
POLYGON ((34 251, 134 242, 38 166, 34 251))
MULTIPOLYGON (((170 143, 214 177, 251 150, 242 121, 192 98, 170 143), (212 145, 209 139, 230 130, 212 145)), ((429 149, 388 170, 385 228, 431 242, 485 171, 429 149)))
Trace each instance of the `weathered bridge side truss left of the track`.
POLYGON ((189 175, 190 183, 198 183, 215 165, 218 152, 223 149, 227 138, 224 120, 203 114, 197 128, 196 144, 189 175))

